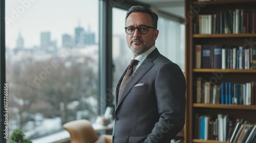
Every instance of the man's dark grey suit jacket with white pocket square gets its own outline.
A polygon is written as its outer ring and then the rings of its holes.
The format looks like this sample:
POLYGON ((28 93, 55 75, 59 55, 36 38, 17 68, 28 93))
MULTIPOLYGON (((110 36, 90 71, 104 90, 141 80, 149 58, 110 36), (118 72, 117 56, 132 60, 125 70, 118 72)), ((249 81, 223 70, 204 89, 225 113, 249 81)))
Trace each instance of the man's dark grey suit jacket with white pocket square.
POLYGON ((185 123, 182 70, 155 49, 127 81, 118 100, 126 70, 116 88, 113 142, 169 143, 185 123))

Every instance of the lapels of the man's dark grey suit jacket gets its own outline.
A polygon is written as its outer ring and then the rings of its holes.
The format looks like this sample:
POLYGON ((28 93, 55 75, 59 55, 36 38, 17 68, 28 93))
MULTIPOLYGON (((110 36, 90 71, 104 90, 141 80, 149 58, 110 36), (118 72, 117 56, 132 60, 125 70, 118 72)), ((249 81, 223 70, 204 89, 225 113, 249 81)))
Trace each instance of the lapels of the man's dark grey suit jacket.
POLYGON ((120 95, 120 99, 118 100, 119 88, 120 88, 120 84, 122 82, 123 76, 126 73, 126 70, 127 70, 127 68, 126 68, 121 79, 118 82, 117 89, 116 89, 116 90, 118 90, 118 91, 116 91, 116 105, 117 105, 116 109, 118 108, 120 103, 123 101, 123 99, 127 96, 127 93, 129 93, 129 91, 132 89, 132 87, 147 73, 148 70, 151 69, 151 67, 154 65, 154 63, 152 61, 155 60, 159 56, 159 54, 160 53, 158 52, 158 50, 155 49, 150 55, 148 55, 146 57, 146 59, 140 64, 138 69, 135 70, 135 72, 133 73, 131 78, 125 84, 123 91, 120 95))

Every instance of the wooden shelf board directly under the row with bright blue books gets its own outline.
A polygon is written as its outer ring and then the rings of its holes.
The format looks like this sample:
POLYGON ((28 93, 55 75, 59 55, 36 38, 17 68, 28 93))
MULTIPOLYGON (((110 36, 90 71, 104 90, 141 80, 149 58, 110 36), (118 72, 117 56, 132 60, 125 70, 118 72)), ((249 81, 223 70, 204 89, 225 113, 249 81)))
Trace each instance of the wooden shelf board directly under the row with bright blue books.
POLYGON ((256 110, 256 106, 255 105, 223 105, 223 104, 194 103, 193 107, 198 107, 198 108, 221 108, 221 109, 256 110))

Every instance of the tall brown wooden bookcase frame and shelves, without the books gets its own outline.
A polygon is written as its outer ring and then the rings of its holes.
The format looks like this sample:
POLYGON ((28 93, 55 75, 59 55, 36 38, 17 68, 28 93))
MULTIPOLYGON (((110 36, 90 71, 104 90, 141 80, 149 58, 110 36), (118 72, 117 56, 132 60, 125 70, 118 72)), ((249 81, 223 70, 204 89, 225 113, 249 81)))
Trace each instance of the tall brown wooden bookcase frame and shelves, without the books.
MULTIPOLYGON (((256 123, 256 105, 235 105, 235 104, 203 104, 197 103, 196 80, 198 77, 209 80, 214 74, 220 74, 217 84, 222 82, 246 83, 256 81, 256 69, 220 69, 220 68, 195 68, 197 44, 221 44, 244 46, 246 40, 256 42, 254 33, 227 33, 227 34, 198 34, 195 33, 196 11, 195 7, 204 4, 204 7, 197 9, 198 14, 215 14, 219 11, 235 9, 246 9, 245 11, 256 10, 256 0, 219 0, 209 2, 198 2, 196 0, 185 1, 185 77, 186 77, 186 124, 184 129, 184 141, 187 143, 198 142, 224 142, 218 140, 204 140, 194 136, 196 132, 196 114, 210 114, 217 118, 218 114, 228 114, 230 120, 237 118, 245 119, 250 123, 256 123), (191 16, 189 16, 189 14, 191 16), (246 39, 246 40, 245 40, 246 39)), ((253 46, 256 44, 253 43, 253 46)), ((228 142, 228 141, 227 141, 228 142)))

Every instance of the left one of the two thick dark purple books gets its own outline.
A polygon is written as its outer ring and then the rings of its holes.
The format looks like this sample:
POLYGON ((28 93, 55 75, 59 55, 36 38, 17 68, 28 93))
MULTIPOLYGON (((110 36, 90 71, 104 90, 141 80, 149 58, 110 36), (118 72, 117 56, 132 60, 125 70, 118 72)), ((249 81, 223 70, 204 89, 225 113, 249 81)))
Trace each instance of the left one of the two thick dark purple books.
POLYGON ((202 45, 201 68, 211 68, 211 47, 212 45, 202 45))

